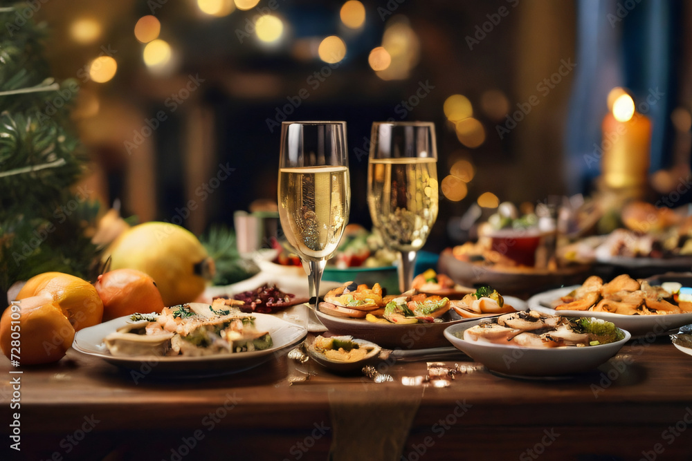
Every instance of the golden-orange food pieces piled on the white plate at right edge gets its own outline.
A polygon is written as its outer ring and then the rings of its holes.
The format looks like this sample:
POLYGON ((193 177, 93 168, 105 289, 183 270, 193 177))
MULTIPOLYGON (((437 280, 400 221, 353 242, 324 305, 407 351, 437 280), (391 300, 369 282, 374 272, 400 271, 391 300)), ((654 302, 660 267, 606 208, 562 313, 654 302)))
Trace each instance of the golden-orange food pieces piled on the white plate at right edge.
POLYGON ((588 310, 623 315, 681 314, 692 312, 689 288, 680 283, 650 285, 622 274, 608 283, 590 276, 576 290, 554 301, 555 310, 588 310))

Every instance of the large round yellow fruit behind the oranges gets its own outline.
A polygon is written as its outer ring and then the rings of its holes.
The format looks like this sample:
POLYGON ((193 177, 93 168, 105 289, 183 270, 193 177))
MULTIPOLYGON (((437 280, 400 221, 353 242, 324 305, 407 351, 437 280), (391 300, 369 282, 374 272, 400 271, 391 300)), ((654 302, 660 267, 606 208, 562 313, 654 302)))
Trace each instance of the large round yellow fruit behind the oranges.
POLYGON ((127 229, 104 253, 110 270, 135 269, 154 279, 165 305, 194 301, 213 275, 213 261, 187 229, 152 221, 127 229))

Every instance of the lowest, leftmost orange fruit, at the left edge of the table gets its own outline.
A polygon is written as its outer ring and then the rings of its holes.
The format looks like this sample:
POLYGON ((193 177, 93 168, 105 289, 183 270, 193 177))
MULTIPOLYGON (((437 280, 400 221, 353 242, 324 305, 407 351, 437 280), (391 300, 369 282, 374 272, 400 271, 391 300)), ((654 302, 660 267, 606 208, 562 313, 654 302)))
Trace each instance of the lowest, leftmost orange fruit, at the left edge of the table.
POLYGON ((22 299, 0 319, 0 348, 9 359, 15 359, 12 353, 18 356, 21 365, 62 359, 74 338, 75 329, 47 292, 22 299))

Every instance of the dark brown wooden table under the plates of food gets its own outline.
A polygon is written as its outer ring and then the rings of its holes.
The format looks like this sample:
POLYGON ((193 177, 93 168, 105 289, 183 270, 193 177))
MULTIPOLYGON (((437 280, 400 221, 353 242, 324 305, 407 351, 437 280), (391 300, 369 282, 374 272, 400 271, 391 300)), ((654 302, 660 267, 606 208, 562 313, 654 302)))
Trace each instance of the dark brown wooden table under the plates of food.
POLYGON ((19 368, 21 375, 2 359, 1 432, 8 435, 18 412, 21 452, 4 436, 0 453, 20 455, 3 460, 325 460, 334 442, 334 460, 692 459, 692 357, 668 337, 630 343, 571 379, 509 379, 462 355, 446 362, 454 363, 475 370, 435 388, 401 383, 425 375, 425 362, 386 366, 394 382, 383 384, 285 355, 226 377, 152 375, 135 384, 74 350, 52 366, 19 368), (309 379, 289 385, 304 373, 309 379), (10 379, 18 376, 21 408, 10 410, 10 379), (387 458, 397 432, 403 457, 387 458))

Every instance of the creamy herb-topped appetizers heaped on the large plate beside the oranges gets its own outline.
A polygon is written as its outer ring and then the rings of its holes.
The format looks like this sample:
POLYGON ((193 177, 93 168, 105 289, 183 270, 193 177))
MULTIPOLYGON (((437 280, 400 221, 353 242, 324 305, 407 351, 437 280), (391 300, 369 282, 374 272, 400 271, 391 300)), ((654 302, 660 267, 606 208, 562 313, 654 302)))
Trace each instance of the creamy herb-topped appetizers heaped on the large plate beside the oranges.
POLYGON ((215 299, 212 305, 188 303, 163 308, 161 314, 134 314, 140 320, 104 338, 113 356, 190 356, 231 354, 271 348, 267 331, 255 317, 239 311, 242 301, 215 299))

